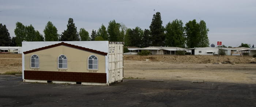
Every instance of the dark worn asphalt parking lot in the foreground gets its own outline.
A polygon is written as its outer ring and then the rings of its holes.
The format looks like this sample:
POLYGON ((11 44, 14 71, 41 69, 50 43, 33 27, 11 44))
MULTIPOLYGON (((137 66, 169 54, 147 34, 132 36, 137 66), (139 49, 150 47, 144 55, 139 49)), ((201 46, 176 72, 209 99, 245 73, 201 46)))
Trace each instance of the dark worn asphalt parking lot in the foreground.
POLYGON ((22 82, 0 75, 0 106, 255 107, 256 84, 131 80, 111 86, 22 82))

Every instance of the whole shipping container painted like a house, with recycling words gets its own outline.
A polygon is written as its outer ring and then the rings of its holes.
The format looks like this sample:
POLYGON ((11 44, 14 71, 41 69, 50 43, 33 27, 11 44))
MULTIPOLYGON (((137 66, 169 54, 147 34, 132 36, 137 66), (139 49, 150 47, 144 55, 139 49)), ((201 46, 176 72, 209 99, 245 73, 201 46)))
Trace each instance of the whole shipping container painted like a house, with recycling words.
POLYGON ((22 42, 23 81, 110 85, 123 80, 123 42, 22 42))

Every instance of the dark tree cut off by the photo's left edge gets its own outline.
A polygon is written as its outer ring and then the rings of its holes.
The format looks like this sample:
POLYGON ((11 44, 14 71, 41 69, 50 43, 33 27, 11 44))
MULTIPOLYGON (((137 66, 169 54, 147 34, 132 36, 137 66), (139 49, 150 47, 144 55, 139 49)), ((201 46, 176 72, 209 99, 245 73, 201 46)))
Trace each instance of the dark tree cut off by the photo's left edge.
POLYGON ((10 46, 11 37, 5 25, 0 23, 0 46, 10 46))

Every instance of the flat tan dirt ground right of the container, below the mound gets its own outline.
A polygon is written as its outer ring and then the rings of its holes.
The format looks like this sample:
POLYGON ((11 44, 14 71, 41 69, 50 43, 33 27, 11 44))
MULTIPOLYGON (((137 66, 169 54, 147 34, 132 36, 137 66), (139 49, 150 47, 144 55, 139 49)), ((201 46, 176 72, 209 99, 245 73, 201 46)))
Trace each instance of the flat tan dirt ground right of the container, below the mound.
POLYGON ((256 64, 124 61, 124 77, 256 84, 256 64))

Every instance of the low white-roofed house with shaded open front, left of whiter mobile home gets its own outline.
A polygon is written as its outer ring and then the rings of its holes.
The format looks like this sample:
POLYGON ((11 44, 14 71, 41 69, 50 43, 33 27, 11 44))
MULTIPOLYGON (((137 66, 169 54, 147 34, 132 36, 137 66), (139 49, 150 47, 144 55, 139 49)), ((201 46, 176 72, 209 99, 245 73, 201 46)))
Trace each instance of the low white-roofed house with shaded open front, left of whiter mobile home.
POLYGON ((150 46, 150 47, 144 47, 140 50, 148 50, 153 55, 175 55, 177 50, 185 50, 185 48, 181 47, 162 47, 162 46, 150 46))

